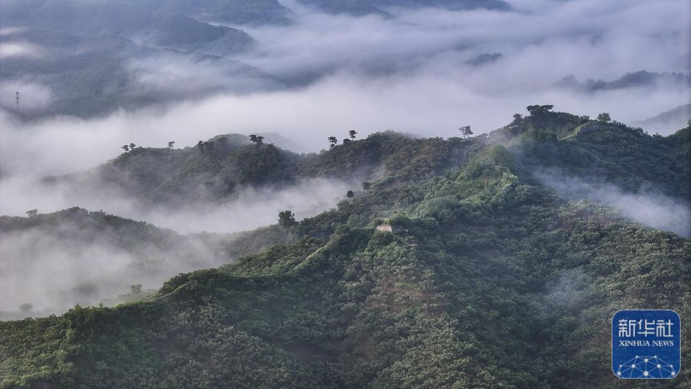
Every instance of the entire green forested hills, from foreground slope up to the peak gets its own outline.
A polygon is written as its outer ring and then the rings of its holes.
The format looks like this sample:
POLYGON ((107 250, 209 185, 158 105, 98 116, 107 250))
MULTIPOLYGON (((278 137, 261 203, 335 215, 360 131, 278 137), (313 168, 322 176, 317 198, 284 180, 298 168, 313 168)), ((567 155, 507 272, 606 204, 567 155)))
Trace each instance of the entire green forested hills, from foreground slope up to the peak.
MULTIPOLYGON (((0 386, 629 385, 609 368, 612 314, 688 317, 691 240, 552 181, 688 207, 691 126, 661 137, 609 115, 528 110, 476 137, 377 133, 298 155, 226 135, 135 148, 85 173, 171 203, 202 178, 212 200, 309 177, 365 182, 330 211, 271 227, 283 243, 175 276, 140 301, 1 322, 0 386)), ((688 381, 682 369, 664 384, 688 381)))

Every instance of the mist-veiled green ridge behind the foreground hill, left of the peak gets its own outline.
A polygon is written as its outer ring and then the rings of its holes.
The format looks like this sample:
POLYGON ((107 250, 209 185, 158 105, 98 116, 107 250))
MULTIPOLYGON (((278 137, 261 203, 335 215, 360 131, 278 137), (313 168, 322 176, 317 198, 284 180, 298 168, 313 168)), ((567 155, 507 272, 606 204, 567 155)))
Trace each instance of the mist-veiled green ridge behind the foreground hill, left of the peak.
POLYGON ((185 149, 137 147, 93 171, 48 182, 69 182, 75 191, 124 192, 143 202, 175 206, 189 198, 223 200, 245 187, 283 187, 305 178, 362 180, 379 167, 402 177, 429 177, 446 169, 464 149, 479 146, 457 138, 410 139, 388 131, 334 145, 328 152, 301 155, 265 143, 259 135, 229 134, 185 149))

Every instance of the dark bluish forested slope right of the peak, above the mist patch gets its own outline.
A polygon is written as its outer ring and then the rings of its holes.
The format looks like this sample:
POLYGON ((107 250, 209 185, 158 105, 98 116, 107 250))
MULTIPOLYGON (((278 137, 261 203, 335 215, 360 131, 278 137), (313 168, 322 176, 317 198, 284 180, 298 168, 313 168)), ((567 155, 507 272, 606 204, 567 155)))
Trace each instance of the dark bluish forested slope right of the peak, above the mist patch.
POLYGON ((549 129, 567 119, 560 115, 564 114, 531 115, 505 129, 520 131, 511 141, 512 151, 531 171, 554 168, 634 193, 652 191, 691 200, 690 127, 661 137, 620 122, 570 117, 564 129, 549 129), (571 130, 578 120, 583 124, 571 130))

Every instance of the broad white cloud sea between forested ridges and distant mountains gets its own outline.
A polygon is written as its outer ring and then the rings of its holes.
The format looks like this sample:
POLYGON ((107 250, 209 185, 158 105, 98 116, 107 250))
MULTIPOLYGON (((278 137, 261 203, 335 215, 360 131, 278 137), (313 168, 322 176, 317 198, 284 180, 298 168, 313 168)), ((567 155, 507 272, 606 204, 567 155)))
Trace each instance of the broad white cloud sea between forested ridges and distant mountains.
MULTIPOLYGON (((596 93, 554 86, 567 75, 612 80, 642 69, 688 72, 688 2, 511 5, 511 12, 392 10, 395 18, 382 19, 324 15, 286 1, 299 23, 247 28, 258 45, 238 59, 255 66, 256 77, 238 73, 242 65, 227 59, 135 57, 128 69, 141 88, 182 102, 91 120, 26 122, 0 113, 0 214, 21 214, 38 202, 20 190, 27 182, 90 169, 129 142, 192 146, 220 133, 278 133, 299 145, 296 151, 316 151, 326 137, 349 129, 446 137, 471 125, 484 133, 533 103, 591 116, 608 111, 632 122, 688 102, 685 84, 596 93), (484 53, 502 56, 468 63, 484 53)), ((19 86, 26 91, 23 110, 32 98, 37 105, 60 98, 39 81, 3 81, 2 104, 12 104, 8 91, 19 86)))

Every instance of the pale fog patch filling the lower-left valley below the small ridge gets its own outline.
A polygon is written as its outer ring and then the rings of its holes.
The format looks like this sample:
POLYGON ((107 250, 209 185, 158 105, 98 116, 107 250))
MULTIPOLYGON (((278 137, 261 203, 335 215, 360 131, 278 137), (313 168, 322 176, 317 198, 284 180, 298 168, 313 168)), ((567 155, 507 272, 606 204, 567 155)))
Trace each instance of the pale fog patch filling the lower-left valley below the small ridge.
MULTIPOLYGON (((131 292, 158 288, 180 272, 228 263, 235 258, 200 236, 171 236, 142 243, 114 225, 75 222, 3 231, 0 236, 0 320, 3 316, 61 313, 75 304, 117 302, 131 292), (96 228, 97 227, 97 228, 96 228), (172 239, 172 241, 171 241, 172 239), (122 242, 129 245, 122 245, 122 242), (17 312, 23 304, 34 312, 17 312), (3 315, 3 311, 10 312, 3 315)), ((231 237, 225 238, 231 241, 231 237)), ((143 297, 143 296, 142 296, 143 297)))

